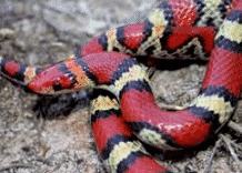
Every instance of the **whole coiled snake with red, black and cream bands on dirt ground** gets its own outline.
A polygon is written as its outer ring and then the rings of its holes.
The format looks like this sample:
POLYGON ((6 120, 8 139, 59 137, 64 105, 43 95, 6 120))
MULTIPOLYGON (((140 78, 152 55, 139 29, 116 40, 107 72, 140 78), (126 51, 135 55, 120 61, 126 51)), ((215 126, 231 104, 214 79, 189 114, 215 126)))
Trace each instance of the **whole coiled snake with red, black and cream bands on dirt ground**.
POLYGON ((48 68, 0 58, 1 75, 52 95, 95 88, 91 129, 109 173, 170 173, 144 149, 191 149, 232 116, 242 86, 242 0, 161 0, 142 23, 111 29, 48 68), (161 110, 148 60, 205 59, 198 96, 183 110, 161 110))

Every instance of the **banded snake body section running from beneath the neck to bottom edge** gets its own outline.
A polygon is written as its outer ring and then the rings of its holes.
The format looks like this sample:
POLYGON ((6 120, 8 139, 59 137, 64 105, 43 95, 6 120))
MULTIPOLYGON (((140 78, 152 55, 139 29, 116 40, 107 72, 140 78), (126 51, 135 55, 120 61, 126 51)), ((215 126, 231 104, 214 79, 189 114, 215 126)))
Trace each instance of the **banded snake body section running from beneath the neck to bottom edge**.
POLYGON ((115 96, 105 90, 95 90, 92 95, 91 126, 109 172, 170 172, 149 156, 122 120, 115 96))

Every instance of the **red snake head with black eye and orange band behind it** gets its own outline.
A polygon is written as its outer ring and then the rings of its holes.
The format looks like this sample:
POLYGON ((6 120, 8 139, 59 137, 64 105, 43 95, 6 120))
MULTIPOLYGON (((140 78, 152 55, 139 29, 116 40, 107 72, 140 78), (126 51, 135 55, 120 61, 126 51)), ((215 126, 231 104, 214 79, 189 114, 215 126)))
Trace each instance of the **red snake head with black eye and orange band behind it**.
POLYGON ((83 68, 75 59, 69 58, 43 70, 29 82, 28 88, 38 94, 60 94, 92 85, 83 68))

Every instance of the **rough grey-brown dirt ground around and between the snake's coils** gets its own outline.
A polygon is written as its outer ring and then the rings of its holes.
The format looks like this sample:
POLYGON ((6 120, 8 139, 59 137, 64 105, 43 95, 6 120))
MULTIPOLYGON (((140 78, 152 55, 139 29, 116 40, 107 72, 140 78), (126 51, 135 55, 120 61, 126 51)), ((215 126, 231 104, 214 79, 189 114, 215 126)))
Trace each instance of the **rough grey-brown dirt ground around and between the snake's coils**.
MULTIPOLYGON (((49 65, 101 32, 143 20, 158 1, 0 1, 0 55, 49 65)), ((161 61, 151 78, 159 104, 188 105, 199 92, 205 61, 161 61), (172 68, 168 68, 172 67, 172 68)), ((89 98, 40 98, 0 78, 0 173, 104 173, 89 124, 89 98), (71 101, 72 102, 71 102, 71 101)), ((199 147, 149 149, 178 173, 242 172, 242 103, 233 122, 199 147), (236 126, 238 125, 238 126, 236 126)))

